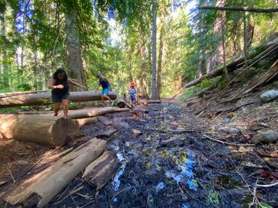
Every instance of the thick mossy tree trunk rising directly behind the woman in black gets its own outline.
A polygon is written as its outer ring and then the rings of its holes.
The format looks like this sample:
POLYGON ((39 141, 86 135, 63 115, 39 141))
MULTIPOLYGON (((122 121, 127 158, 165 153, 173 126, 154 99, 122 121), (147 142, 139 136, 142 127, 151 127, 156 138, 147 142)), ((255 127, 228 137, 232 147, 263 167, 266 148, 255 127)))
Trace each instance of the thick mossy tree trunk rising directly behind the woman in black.
MULTIPOLYGON (((68 75, 77 83, 86 86, 85 73, 81 58, 80 34, 77 24, 78 15, 76 1, 69 0, 65 3, 65 26, 67 37, 67 69, 68 75)), ((72 91, 78 88, 70 86, 72 91)))

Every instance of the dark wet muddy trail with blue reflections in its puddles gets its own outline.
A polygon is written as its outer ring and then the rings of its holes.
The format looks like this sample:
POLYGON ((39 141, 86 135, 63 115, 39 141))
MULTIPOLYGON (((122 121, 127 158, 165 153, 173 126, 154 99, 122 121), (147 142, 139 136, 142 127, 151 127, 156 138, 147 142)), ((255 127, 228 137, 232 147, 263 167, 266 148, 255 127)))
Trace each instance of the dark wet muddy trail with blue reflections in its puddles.
MULTIPOLYGON (((180 104, 143 106, 106 115, 111 125, 83 126, 80 144, 100 132, 117 130, 102 139, 121 165, 99 191, 79 174, 47 207, 249 207, 259 177, 242 162, 258 163, 260 158, 245 151, 248 146, 206 139, 208 123, 180 104)), ((258 187, 256 197, 278 206, 275 187, 258 187)))

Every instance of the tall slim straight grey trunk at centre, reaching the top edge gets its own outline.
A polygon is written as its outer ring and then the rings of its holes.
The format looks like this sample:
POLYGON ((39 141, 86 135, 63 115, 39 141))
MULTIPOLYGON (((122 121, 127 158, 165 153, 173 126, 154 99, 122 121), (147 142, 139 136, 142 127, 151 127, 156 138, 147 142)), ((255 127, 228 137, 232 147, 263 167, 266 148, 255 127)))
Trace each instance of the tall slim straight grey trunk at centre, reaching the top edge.
POLYGON ((152 0, 152 100, 156 98, 156 0, 152 0))

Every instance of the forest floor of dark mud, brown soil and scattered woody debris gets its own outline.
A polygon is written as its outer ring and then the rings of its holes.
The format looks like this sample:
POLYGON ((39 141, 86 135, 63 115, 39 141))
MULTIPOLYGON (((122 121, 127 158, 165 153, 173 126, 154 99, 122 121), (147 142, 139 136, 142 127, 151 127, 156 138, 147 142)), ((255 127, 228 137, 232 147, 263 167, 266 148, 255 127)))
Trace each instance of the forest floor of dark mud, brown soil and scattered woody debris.
MULTIPOLYGON (((256 186, 278 180, 278 145, 250 144, 256 133, 277 130, 278 101, 259 98, 266 89, 275 83, 233 101, 240 84, 222 94, 214 89, 186 102, 106 114, 111 125, 84 125, 85 137, 74 146, 113 128, 115 134, 102 139, 122 165, 99 191, 79 174, 47 207, 278 207, 277 186, 256 186)), ((0 198, 65 148, 1 141, 0 198)))

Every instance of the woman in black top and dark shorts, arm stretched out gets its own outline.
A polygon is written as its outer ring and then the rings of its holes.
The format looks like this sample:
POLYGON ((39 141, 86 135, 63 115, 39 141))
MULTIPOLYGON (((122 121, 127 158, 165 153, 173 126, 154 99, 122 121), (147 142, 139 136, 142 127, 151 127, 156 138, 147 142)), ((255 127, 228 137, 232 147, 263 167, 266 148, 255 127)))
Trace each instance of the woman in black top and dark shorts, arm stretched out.
POLYGON ((67 73, 65 73, 63 68, 57 69, 48 85, 48 88, 52 89, 51 99, 54 103, 54 116, 58 116, 60 103, 63 103, 64 116, 67 117, 67 112, 69 110, 68 101, 70 98, 69 84, 86 89, 83 85, 74 83, 74 81, 67 78, 67 73))

